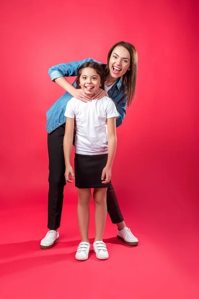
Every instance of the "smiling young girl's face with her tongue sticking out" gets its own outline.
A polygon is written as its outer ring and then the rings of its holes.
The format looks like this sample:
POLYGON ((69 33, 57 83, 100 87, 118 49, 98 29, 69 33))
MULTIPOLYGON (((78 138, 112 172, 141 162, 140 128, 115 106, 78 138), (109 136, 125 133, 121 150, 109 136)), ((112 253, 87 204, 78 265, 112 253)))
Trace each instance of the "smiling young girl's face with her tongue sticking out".
POLYGON ((100 88, 100 75, 91 67, 82 69, 80 75, 80 86, 82 90, 88 94, 93 95, 100 88))

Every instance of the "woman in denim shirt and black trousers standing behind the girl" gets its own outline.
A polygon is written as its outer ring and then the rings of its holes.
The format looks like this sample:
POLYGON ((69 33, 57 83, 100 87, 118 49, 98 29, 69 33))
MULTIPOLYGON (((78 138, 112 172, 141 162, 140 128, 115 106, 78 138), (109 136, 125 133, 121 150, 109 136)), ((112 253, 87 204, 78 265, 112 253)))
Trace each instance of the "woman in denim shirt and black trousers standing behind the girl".
MULTIPOLYGON (((65 77, 77 76, 78 68, 84 62, 95 61, 88 58, 82 61, 64 63, 49 69, 52 81, 58 83, 67 92, 55 102, 47 111, 48 131, 48 154, 49 154, 49 193, 48 193, 48 229, 46 236, 41 240, 42 249, 51 248, 59 239, 58 228, 60 227, 65 180, 65 162, 63 152, 63 138, 65 132, 64 116, 66 105, 72 97, 84 102, 92 98, 101 99, 102 96, 110 96, 117 105, 118 118, 116 127, 120 126, 124 120, 126 106, 130 106, 136 85, 137 77, 137 52, 135 47, 124 41, 114 44, 107 55, 107 64, 101 64, 105 69, 106 78, 104 89, 99 88, 91 97, 82 89, 76 89, 65 79, 65 77)), ((117 237, 128 245, 137 245, 138 239, 126 227, 122 213, 119 208, 117 197, 112 184, 107 187, 107 212, 112 223, 116 223, 117 237)))

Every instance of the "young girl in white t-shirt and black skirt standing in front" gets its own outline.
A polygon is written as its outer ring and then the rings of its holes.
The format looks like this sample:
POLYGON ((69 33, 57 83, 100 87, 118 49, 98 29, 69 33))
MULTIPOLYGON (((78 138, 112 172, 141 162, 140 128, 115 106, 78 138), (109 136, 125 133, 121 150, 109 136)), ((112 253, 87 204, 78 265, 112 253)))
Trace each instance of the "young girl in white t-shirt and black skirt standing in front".
MULTIPOLYGON (((77 88, 82 88, 91 97, 101 87, 104 88, 103 69, 96 62, 85 62, 78 70, 77 88)), ((111 167, 116 149, 116 124, 118 116, 114 102, 108 97, 85 104, 72 98, 66 107, 66 130, 64 136, 64 156, 68 182, 71 174, 78 187, 78 222, 81 243, 76 253, 77 260, 87 260, 90 243, 89 205, 91 188, 94 188, 96 238, 94 251, 98 259, 107 259, 108 252, 102 241, 106 220, 106 190, 111 177, 111 167), (71 166, 74 122, 75 176, 71 166)))

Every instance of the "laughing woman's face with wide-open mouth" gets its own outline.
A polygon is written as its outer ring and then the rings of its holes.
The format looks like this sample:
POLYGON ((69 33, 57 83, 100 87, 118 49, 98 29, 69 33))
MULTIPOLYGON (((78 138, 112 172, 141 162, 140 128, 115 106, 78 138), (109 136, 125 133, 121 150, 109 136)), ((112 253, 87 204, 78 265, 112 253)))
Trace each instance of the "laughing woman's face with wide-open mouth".
POLYGON ((109 60, 109 72, 112 78, 118 79, 130 70, 130 53, 122 46, 113 49, 109 60))

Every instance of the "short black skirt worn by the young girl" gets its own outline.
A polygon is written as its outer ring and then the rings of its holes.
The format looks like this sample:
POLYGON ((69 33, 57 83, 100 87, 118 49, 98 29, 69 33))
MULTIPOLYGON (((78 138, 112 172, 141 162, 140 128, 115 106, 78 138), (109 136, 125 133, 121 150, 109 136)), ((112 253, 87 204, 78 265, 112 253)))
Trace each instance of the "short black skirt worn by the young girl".
POLYGON ((77 188, 107 188, 110 182, 102 184, 101 174, 108 154, 75 154, 75 186, 77 188))

